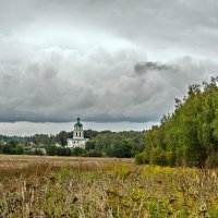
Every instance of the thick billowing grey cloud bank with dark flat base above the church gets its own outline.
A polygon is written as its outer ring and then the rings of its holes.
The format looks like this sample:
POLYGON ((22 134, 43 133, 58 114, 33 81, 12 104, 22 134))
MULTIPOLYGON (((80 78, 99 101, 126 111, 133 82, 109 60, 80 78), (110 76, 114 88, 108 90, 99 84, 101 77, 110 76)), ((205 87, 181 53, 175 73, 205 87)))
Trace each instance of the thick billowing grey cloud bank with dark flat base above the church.
POLYGON ((121 53, 56 48, 1 64, 0 121, 157 121, 189 83, 208 78, 217 66, 191 58, 142 64, 133 61, 136 53, 121 53))

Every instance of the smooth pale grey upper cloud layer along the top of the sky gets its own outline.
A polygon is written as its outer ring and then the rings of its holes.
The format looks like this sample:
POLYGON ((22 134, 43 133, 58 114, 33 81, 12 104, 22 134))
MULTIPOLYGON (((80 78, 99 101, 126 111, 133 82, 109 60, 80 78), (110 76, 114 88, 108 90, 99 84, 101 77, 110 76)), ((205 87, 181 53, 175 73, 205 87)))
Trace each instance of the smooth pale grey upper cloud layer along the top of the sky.
POLYGON ((25 29, 40 37, 43 27, 61 32, 65 26, 63 31, 73 28, 74 34, 86 29, 112 35, 147 49, 203 57, 213 57, 218 49, 216 0, 1 0, 0 5, 2 37, 15 37, 25 29))

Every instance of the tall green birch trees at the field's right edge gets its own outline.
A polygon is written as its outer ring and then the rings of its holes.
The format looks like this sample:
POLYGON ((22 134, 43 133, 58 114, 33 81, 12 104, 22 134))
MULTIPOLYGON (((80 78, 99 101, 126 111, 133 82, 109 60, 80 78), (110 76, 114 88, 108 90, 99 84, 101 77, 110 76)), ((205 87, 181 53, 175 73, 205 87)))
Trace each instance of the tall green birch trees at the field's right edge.
POLYGON ((189 87, 172 114, 145 134, 136 162, 160 166, 218 167, 218 78, 189 87))

